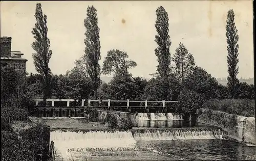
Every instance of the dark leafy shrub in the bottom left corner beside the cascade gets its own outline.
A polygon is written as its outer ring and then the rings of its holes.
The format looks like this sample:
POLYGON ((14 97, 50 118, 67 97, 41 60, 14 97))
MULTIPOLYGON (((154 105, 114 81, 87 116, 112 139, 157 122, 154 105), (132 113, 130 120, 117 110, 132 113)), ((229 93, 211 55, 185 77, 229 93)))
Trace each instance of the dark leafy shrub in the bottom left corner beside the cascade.
MULTIPOLYGON (((25 161, 39 160, 40 154, 47 156, 49 140, 44 135, 43 125, 20 131, 2 130, 2 160, 25 161)), ((41 158, 48 160, 48 158, 41 158)))

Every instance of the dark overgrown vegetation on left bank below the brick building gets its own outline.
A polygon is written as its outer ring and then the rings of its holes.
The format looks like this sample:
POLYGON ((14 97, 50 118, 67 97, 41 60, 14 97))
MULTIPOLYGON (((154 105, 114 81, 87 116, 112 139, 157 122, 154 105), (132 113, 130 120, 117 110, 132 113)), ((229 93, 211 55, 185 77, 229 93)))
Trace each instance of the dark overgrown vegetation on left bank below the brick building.
POLYGON ((25 75, 1 69, 2 160, 47 160, 41 158, 47 156, 45 147, 49 147, 49 140, 43 137, 44 125, 28 121, 33 111, 33 91, 25 75), (25 125, 30 128, 23 129, 25 125))

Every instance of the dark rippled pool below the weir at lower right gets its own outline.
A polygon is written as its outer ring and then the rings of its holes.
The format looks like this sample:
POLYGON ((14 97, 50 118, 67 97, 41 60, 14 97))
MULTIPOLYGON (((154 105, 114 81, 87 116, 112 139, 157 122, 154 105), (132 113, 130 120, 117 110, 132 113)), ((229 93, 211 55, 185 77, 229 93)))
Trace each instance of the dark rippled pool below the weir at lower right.
POLYGON ((158 151, 178 155, 191 160, 244 160, 255 155, 255 147, 248 147, 228 140, 175 140, 138 141, 136 146, 155 147, 158 151))

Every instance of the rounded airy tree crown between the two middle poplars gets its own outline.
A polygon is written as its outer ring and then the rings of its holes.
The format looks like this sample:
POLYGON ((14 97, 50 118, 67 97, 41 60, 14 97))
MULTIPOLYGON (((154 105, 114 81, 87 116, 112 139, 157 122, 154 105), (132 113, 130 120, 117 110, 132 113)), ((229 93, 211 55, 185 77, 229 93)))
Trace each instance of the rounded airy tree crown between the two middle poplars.
POLYGON ((108 51, 102 67, 103 74, 120 74, 129 73, 129 69, 137 66, 137 63, 132 60, 126 60, 129 56, 126 52, 120 51, 118 49, 111 49, 108 51))

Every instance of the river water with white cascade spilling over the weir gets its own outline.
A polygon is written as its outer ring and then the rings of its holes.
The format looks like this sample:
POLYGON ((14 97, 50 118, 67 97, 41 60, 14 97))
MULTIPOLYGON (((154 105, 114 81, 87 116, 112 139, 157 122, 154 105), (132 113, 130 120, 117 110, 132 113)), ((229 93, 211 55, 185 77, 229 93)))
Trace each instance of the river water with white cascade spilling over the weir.
POLYGON ((128 131, 93 126, 53 130, 55 161, 256 160, 255 146, 225 140, 217 127, 183 120, 134 120, 133 125, 128 131))

